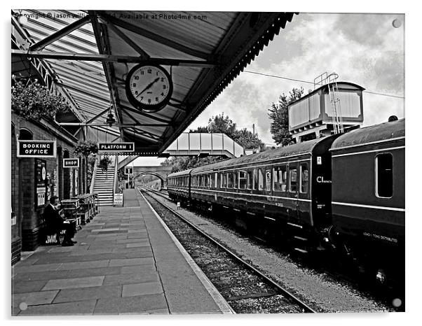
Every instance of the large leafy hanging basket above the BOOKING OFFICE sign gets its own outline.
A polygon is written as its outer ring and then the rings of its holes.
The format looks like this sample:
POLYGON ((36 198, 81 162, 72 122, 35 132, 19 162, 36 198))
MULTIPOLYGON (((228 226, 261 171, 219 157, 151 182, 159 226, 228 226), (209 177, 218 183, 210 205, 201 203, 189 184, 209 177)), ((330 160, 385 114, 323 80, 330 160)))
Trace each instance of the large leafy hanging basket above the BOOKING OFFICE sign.
POLYGON ((12 110, 25 119, 53 120, 57 112, 69 110, 66 100, 55 95, 37 80, 18 80, 12 76, 12 110))

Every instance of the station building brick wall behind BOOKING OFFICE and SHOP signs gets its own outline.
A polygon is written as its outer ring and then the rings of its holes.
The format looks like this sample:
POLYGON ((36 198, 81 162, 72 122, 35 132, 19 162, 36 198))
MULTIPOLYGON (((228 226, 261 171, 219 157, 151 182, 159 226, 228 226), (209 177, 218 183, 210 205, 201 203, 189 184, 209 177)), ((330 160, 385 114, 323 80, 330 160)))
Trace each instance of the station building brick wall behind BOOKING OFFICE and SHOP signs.
MULTIPOLYGON (((20 252, 35 250, 43 243, 43 209, 36 206, 36 158, 17 157, 17 140, 23 137, 33 140, 55 140, 57 157, 42 158, 46 162, 46 173, 50 176, 48 190, 50 195, 55 194, 60 199, 69 199, 76 194, 89 192, 86 182, 86 160, 79 159, 78 169, 64 169, 63 157, 75 157, 73 148, 76 138, 64 129, 55 125, 55 122, 28 121, 12 113, 11 128, 11 211, 15 216, 12 223, 12 264, 20 260, 20 252), (77 188, 75 175, 78 176, 77 188), (57 184, 56 184, 57 183, 57 184)), ((48 204, 46 198, 46 204, 48 204)))

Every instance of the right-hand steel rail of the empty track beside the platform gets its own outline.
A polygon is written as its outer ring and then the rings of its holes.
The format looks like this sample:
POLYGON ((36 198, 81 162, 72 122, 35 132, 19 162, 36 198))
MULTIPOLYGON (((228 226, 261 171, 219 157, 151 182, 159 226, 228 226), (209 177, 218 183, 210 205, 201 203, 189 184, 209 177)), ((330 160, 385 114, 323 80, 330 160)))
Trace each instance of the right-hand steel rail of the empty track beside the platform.
MULTIPOLYGON (((138 186, 138 187, 142 188, 144 190, 144 192, 154 192, 156 194, 161 195, 161 197, 165 197, 165 195, 160 194, 156 190, 151 190, 151 189, 148 189, 148 188, 142 187, 142 186, 138 186)), ((186 224, 188 224, 189 226, 193 227, 193 229, 196 229, 196 231, 198 233, 200 233, 201 235, 205 236, 206 239, 210 240, 212 243, 215 243, 215 245, 217 245, 219 248, 222 248, 226 253, 228 253, 229 255, 231 255, 231 257, 233 257, 236 260, 238 260, 238 262, 244 264, 248 269, 254 271, 254 273, 256 273, 259 276, 261 276, 262 278, 264 278, 268 283, 271 283, 271 285, 273 285, 275 288, 277 288, 278 290, 280 290, 280 292, 282 292, 283 295, 285 295, 285 297, 289 297, 298 306, 300 306, 302 309, 304 309, 304 312, 306 312, 306 313, 318 313, 318 311, 313 310, 310 306, 308 306, 306 303, 304 303, 303 301, 301 301, 301 299, 299 299, 298 297, 296 297, 295 295, 293 295, 291 292, 289 292, 288 290, 286 290, 285 288, 283 288, 282 285, 280 285, 277 282, 273 281, 271 278, 269 278, 268 276, 266 276, 265 274, 263 274, 261 271, 259 271, 255 267, 253 267, 248 262, 245 262, 245 260, 243 260, 242 258, 240 258, 235 253, 233 253, 229 248, 226 248, 226 246, 222 245, 217 240, 213 239, 211 236, 209 236, 208 234, 206 234, 205 232, 203 232, 201 229, 198 229, 198 227, 196 227, 196 225, 193 225, 191 222, 189 222, 189 220, 186 220, 186 218, 184 218, 182 215, 180 215, 179 213, 177 213, 176 211, 174 211, 172 208, 170 208, 169 206, 167 206, 167 205, 165 205, 165 204, 163 204, 161 202, 160 202, 160 204, 163 205, 165 208, 167 208, 169 211, 171 211, 173 214, 175 214, 178 218, 180 218, 181 220, 183 220, 184 222, 186 222, 186 224)))

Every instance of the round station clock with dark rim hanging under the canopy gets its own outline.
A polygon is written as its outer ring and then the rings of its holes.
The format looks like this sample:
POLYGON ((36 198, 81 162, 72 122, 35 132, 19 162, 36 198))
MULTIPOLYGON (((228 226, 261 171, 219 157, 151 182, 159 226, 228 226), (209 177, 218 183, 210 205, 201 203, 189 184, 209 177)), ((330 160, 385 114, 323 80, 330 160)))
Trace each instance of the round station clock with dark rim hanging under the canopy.
POLYGON ((161 66, 138 65, 128 73, 126 94, 135 108, 158 111, 170 100, 172 80, 161 66))

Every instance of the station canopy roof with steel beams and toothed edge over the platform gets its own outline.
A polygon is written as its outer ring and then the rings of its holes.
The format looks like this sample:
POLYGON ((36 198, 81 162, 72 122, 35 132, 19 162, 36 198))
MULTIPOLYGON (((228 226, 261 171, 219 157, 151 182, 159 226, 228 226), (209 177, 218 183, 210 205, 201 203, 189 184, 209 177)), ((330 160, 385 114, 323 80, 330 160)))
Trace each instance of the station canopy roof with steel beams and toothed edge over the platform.
POLYGON ((133 141, 130 154, 158 156, 293 15, 12 10, 12 73, 66 97, 71 112, 56 120, 79 139, 133 141), (128 101, 125 79, 137 64, 170 73, 172 96, 159 111, 128 101))

